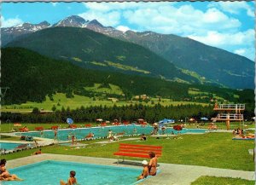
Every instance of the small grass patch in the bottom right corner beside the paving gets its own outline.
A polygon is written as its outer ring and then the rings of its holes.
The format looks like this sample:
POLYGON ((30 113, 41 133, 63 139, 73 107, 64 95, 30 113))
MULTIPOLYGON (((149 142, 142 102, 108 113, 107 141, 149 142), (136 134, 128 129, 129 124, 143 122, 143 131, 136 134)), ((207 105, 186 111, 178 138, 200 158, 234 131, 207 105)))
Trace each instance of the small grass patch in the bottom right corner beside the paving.
POLYGON ((254 181, 248 181, 241 178, 201 176, 192 182, 191 185, 254 185, 254 181))

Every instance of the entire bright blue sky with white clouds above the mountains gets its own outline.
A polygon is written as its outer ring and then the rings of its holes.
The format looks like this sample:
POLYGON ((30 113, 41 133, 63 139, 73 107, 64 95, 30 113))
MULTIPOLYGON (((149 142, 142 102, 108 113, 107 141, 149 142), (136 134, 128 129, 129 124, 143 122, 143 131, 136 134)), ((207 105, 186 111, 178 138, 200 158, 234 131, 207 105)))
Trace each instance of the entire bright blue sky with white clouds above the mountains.
POLYGON ((254 61, 254 2, 2 3, 2 27, 77 14, 120 31, 176 34, 254 61))

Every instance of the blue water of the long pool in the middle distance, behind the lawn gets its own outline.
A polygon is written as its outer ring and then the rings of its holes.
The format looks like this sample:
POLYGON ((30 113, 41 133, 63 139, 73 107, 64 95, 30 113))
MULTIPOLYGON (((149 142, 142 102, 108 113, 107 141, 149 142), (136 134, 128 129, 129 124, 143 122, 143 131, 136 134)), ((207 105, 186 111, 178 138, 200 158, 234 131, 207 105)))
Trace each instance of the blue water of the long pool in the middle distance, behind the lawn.
MULTIPOLYGON (((65 129, 65 130, 58 130, 57 140, 59 141, 67 141, 71 140, 71 136, 75 135, 77 139, 83 139, 84 136, 88 136, 88 134, 94 133, 95 138, 106 137, 108 136, 108 130, 112 130, 113 134, 119 134, 125 132, 125 136, 131 135, 149 135, 153 131, 152 126, 145 126, 142 127, 140 125, 119 125, 119 126, 108 126, 108 127, 92 127, 92 128, 81 128, 81 129, 65 129)), ((183 129, 181 131, 173 130, 172 128, 167 128, 166 134, 184 134, 184 133, 205 133, 206 130, 203 129, 183 129)), ((161 130, 159 130, 161 134, 161 130)), ((26 132, 26 133, 17 133, 17 135, 22 136, 37 136, 37 137, 45 137, 49 139, 54 138, 54 131, 53 130, 44 130, 43 135, 40 131, 34 132, 26 132)))

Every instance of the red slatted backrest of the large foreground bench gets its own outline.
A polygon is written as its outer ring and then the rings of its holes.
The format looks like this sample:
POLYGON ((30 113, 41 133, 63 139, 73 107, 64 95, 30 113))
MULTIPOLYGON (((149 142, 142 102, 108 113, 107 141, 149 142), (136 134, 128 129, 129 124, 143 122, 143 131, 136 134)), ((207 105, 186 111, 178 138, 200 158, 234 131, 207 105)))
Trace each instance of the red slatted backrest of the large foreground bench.
POLYGON ((135 145, 135 144, 119 144, 119 152, 122 153, 144 153, 154 152, 158 157, 162 155, 162 147, 161 146, 153 146, 153 145, 135 145))

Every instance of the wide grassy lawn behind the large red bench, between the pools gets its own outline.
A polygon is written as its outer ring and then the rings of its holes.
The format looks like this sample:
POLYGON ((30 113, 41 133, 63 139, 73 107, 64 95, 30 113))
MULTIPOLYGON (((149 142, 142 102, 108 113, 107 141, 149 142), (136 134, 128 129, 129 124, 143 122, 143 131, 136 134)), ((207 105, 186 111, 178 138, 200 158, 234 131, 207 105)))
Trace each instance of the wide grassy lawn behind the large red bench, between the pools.
MULTIPOLYGON (((101 141, 101 140, 99 140, 101 141)), ((207 133, 203 135, 182 135, 178 139, 148 137, 145 142, 124 141, 133 144, 163 146, 161 163, 202 165, 215 168, 254 171, 253 156, 248 149, 254 147, 254 141, 233 141, 230 133, 207 133)), ((86 143, 86 142, 84 142, 86 143)), ((119 142, 90 145, 75 149, 67 146, 43 147, 43 153, 56 153, 101 158, 114 158, 113 152, 118 151, 119 142)), ((6 159, 17 159, 29 156, 33 150, 21 151, 4 155, 6 159)), ((129 159, 129 158, 125 158, 129 159)), ((135 159, 135 158, 130 158, 135 159)), ((142 159, 138 159, 142 160, 142 159)))

